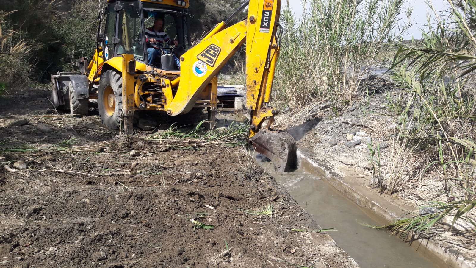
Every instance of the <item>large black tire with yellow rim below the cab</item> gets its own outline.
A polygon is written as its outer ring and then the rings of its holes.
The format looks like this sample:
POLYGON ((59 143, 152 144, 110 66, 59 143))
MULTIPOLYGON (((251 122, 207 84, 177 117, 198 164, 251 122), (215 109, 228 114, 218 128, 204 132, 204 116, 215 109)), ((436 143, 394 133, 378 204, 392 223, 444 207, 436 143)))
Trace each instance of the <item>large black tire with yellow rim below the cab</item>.
POLYGON ((101 74, 98 87, 98 110, 102 124, 106 125, 109 129, 119 128, 122 116, 122 76, 118 72, 109 70, 101 74), (108 96, 104 99, 104 94, 109 95, 108 91, 111 88, 115 99, 113 112, 111 111, 112 107, 105 106, 108 102, 108 96))

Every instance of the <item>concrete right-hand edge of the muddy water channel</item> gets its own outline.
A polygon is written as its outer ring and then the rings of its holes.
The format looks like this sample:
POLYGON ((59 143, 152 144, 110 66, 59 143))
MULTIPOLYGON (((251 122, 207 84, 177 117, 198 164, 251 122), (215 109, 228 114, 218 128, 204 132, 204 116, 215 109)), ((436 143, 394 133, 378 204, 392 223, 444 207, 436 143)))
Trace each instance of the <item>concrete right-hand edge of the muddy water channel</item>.
MULTIPOLYGON (((397 200, 391 199, 389 196, 376 195, 375 190, 371 190, 363 186, 356 180, 356 171, 337 170, 322 159, 313 159, 300 150, 297 151, 304 168, 310 168, 314 173, 321 175, 327 182, 336 188, 344 196, 347 196, 352 202, 356 203, 367 214, 373 217, 382 225, 387 224, 397 218, 408 215, 408 211, 414 210, 415 207, 405 204, 397 204, 397 200), (308 164, 307 164, 307 163, 308 164)), ((360 175, 361 176, 361 175, 360 175)), ((476 262, 465 259, 458 255, 450 248, 440 245, 438 241, 424 237, 408 237, 404 240, 409 246, 420 252, 429 259, 440 263, 442 267, 451 268, 476 268, 476 262)))

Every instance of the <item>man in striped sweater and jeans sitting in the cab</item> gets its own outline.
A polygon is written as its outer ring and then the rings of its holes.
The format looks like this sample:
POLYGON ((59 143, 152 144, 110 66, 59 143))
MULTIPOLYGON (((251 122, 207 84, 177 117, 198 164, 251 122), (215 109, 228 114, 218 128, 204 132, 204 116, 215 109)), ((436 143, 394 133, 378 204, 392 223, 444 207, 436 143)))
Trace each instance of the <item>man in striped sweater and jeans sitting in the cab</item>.
POLYGON ((175 64, 177 64, 177 67, 180 69, 180 61, 178 58, 172 52, 164 50, 163 46, 164 42, 167 42, 169 45, 178 45, 178 41, 169 38, 162 28, 163 25, 164 21, 160 18, 156 18, 154 26, 146 29, 147 64, 152 65, 155 58, 159 55, 172 54, 175 64))

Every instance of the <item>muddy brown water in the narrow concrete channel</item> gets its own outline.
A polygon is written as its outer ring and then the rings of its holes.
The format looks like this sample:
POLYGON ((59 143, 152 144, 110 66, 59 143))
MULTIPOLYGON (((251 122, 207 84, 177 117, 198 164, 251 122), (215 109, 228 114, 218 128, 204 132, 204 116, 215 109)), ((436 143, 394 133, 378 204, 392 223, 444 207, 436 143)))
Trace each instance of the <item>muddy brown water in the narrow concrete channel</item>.
MULTIPOLYGON (((261 162, 267 171, 270 163, 261 162)), ((437 268, 441 267, 385 231, 362 223, 381 225, 371 215, 347 199, 310 165, 292 173, 270 172, 287 186, 289 194, 313 216, 322 228, 335 228, 329 235, 363 268, 437 268)))

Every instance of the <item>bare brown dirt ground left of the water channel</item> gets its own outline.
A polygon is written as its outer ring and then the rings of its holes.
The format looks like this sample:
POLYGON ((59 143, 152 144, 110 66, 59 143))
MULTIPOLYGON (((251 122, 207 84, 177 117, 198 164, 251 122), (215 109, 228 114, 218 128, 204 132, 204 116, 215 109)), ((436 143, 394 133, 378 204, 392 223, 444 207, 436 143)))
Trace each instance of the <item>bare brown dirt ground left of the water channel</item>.
POLYGON ((0 266, 357 267, 291 230, 319 227, 243 145, 164 138, 167 124, 120 136, 49 96, 0 98, 0 266))

